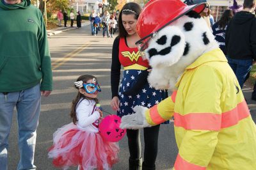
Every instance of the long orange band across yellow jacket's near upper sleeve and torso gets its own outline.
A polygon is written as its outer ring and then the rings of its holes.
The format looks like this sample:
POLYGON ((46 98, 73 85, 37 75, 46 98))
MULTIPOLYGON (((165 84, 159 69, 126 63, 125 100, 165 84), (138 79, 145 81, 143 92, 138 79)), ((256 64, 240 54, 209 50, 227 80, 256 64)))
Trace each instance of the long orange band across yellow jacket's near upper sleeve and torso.
POLYGON ((186 130, 215 130, 236 125, 240 120, 250 115, 245 101, 237 104, 237 107, 222 114, 213 113, 189 113, 180 115, 174 113, 174 125, 183 127, 186 130))

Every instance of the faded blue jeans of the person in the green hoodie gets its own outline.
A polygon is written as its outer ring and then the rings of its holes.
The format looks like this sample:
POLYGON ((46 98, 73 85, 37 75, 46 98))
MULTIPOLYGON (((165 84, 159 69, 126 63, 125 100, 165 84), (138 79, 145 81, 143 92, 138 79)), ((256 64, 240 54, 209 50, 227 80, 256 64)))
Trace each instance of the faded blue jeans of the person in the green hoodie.
POLYGON ((7 169, 8 137, 14 107, 17 109, 19 127, 20 161, 17 169, 36 169, 34 154, 40 105, 40 84, 7 95, 0 93, 0 170, 7 169))

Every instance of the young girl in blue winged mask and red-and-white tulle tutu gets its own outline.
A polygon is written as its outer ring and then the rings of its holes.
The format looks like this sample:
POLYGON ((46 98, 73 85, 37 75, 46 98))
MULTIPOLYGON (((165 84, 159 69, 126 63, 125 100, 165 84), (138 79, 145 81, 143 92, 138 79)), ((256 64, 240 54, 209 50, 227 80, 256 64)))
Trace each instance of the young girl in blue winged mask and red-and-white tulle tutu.
POLYGON ((54 166, 62 169, 70 166, 78 166, 79 170, 111 169, 118 162, 119 148, 99 134, 102 111, 95 109, 101 91, 97 79, 93 75, 81 75, 74 84, 78 93, 70 112, 73 122, 54 132, 48 155, 53 158, 54 166))

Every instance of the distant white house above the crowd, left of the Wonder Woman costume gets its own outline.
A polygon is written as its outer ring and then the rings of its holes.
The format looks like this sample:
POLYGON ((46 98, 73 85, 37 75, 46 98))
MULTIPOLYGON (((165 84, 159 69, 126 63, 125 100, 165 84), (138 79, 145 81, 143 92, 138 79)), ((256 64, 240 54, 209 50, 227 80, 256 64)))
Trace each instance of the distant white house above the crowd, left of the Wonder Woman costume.
POLYGON ((70 0, 70 5, 81 13, 88 13, 92 10, 102 13, 102 8, 108 5, 108 0, 70 0))

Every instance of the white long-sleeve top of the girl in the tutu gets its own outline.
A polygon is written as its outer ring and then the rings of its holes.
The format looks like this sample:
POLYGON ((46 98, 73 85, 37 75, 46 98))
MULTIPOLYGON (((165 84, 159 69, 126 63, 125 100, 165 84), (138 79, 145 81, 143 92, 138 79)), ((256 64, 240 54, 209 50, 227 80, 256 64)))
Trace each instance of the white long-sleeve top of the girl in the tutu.
POLYGON ((99 132, 100 113, 93 110, 96 102, 94 100, 83 99, 79 101, 76 108, 77 127, 86 132, 99 132))

